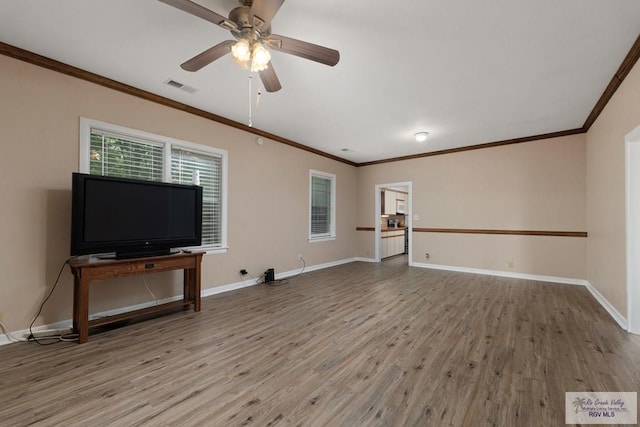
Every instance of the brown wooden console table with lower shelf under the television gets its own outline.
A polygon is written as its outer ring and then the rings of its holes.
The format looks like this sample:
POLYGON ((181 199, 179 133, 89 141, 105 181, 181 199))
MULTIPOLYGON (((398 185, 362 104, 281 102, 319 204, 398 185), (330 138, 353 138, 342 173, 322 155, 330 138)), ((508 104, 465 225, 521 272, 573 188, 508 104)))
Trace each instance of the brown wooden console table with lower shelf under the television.
POLYGON ((78 342, 87 342, 90 327, 107 325, 178 307, 188 308, 191 304, 193 304, 193 311, 200 311, 202 255, 203 252, 193 252, 133 259, 73 259, 69 261, 73 273, 73 331, 78 334, 78 342), (92 282, 169 270, 184 270, 182 300, 89 320, 89 287, 92 282))

